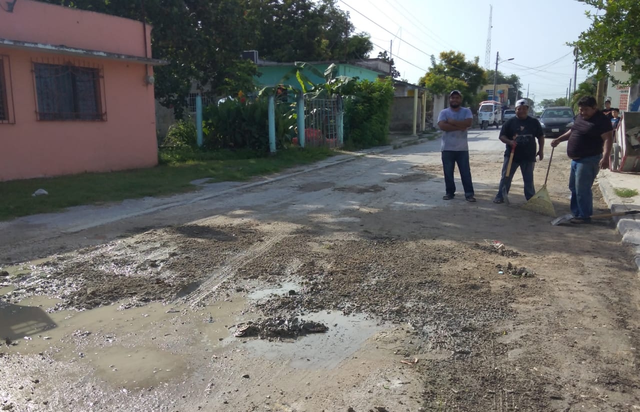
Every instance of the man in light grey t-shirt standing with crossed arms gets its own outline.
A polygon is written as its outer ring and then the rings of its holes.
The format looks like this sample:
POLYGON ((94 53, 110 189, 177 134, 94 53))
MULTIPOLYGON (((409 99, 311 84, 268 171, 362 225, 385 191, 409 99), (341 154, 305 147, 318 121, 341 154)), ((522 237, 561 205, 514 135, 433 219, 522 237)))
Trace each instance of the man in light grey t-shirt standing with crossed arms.
POLYGON ((462 95, 454 90, 449 93, 449 107, 440 112, 438 127, 442 130, 442 169, 444 171, 444 184, 446 194, 442 196, 445 201, 451 200, 456 195, 456 183, 453 179, 455 165, 458 165, 462 187, 465 190, 465 199, 475 202, 474 183, 471 180, 471 167, 469 166, 469 145, 467 142, 467 129, 471 127, 473 115, 468 107, 460 107, 462 95))

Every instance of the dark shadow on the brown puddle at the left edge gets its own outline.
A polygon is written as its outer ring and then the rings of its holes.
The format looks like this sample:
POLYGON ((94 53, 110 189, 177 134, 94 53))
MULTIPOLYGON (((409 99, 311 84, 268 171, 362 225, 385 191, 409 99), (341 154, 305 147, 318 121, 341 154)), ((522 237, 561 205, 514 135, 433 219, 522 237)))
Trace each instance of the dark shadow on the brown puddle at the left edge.
POLYGON ((26 336, 38 335, 58 326, 39 307, 14 305, 0 300, 0 343, 13 342, 26 336))

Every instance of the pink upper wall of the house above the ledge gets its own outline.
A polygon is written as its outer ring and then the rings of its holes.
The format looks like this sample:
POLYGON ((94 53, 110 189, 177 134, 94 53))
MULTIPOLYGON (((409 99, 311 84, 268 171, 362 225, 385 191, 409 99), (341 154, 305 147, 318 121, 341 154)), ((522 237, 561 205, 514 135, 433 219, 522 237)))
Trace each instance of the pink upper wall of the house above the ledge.
MULTIPOLYGON (((150 33, 147 25, 148 56, 150 33)), ((0 13, 0 38, 145 57, 141 22, 33 0, 0 13)))

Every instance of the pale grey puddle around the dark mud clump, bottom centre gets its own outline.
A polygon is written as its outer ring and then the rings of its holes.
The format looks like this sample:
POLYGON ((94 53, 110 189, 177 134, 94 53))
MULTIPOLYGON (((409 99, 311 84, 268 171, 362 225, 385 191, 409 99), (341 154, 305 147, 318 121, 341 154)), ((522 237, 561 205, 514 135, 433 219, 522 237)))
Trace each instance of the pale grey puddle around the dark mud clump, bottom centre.
POLYGON ((344 316, 341 312, 319 312, 303 319, 324 323, 329 330, 299 337, 294 342, 249 340, 246 347, 253 356, 284 360, 292 369, 333 369, 383 329, 363 314, 344 316))

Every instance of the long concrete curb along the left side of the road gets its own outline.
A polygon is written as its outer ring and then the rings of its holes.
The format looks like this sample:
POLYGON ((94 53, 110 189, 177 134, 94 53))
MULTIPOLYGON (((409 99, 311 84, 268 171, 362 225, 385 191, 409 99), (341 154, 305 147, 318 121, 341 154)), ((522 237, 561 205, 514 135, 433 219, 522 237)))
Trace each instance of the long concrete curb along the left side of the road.
POLYGON ((124 219, 127 219, 127 218, 138 217, 138 216, 142 216, 142 215, 148 215, 149 213, 154 213, 156 211, 162 211, 162 210, 174 208, 176 206, 182 206, 184 204, 192 204, 192 203, 196 203, 196 202, 206 201, 206 200, 213 199, 214 197, 218 197, 218 196, 221 196, 221 195, 237 192, 237 191, 240 191, 240 190, 245 190, 245 189, 252 188, 252 187, 268 185, 269 183, 280 181, 282 179, 289 179, 289 178, 292 178, 293 176, 298 176, 299 174, 313 172, 313 171, 317 171, 317 170, 320 170, 320 169, 325 169, 326 167, 331 167, 331 166, 343 164, 343 163, 346 163, 346 162, 351 162, 352 160, 356 160, 357 158, 360 158, 362 156, 378 155, 378 154, 381 154, 381 153, 387 153, 388 151, 392 151, 394 149, 404 148, 406 146, 412 146, 412 145, 420 144, 420 143, 426 142, 426 141, 429 141, 428 137, 424 137, 424 138, 419 138, 418 137, 416 139, 408 139, 406 141, 401 141, 398 144, 394 144, 392 146, 379 146, 378 148, 371 148, 371 149, 366 149, 366 150, 359 151, 359 152, 353 152, 353 154, 349 153, 349 154, 346 154, 346 155, 341 155, 341 156, 344 156, 344 157, 343 158, 338 158, 337 160, 333 160, 332 162, 324 162, 324 163, 321 163, 321 164, 313 164, 310 167, 307 167, 307 168, 302 169, 300 171, 291 172, 291 173, 287 173, 287 174, 282 174, 280 176, 276 176, 275 178, 268 178, 268 179, 264 179, 264 180, 260 180, 260 181, 255 181, 255 182, 252 182, 252 183, 247 183, 246 185, 241 185, 241 186, 237 186, 237 187, 228 188, 226 190, 221 190, 220 192, 215 192, 215 193, 210 193, 210 194, 198 196, 198 197, 195 197, 194 199, 188 199, 188 200, 177 201, 177 202, 169 202, 169 203, 161 204, 161 205, 158 205, 158 206, 154 206, 152 208, 138 210, 138 211, 134 211, 134 212, 131 212, 131 213, 126 213, 125 215, 118 215, 118 216, 106 218, 104 220, 93 221, 93 222, 91 222, 89 224, 78 225, 78 226, 71 227, 70 229, 65 229, 65 230, 61 231, 61 233, 63 233, 63 234, 78 233, 78 232, 84 231, 86 229, 91 229, 92 227, 97 227, 97 226, 104 225, 104 224, 118 222, 118 220, 124 220, 124 219))

